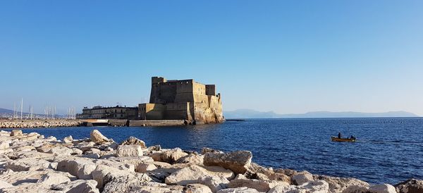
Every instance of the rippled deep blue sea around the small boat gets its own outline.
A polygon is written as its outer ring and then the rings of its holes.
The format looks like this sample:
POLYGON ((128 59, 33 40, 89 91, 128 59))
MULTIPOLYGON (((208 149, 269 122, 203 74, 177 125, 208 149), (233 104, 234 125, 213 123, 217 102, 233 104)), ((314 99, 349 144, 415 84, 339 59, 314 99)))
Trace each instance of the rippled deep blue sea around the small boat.
POLYGON ((423 179, 423 118, 260 119, 186 127, 55 127, 23 132, 81 139, 90 137, 93 129, 116 142, 134 136, 163 148, 249 150, 260 165, 371 183, 423 179), (358 142, 331 142, 331 135, 338 132, 354 135, 358 142))

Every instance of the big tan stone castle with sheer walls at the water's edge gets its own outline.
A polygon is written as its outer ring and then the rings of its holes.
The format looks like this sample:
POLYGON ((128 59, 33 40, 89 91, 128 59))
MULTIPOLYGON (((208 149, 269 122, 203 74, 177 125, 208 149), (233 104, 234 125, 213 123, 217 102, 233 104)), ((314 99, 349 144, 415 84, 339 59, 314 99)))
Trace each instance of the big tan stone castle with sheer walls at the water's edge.
POLYGON ((149 103, 138 105, 138 116, 142 120, 186 120, 194 125, 224 120, 215 85, 164 77, 152 77, 149 103))

